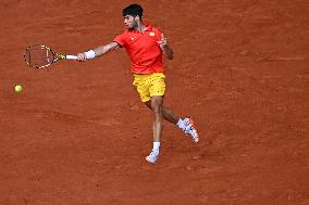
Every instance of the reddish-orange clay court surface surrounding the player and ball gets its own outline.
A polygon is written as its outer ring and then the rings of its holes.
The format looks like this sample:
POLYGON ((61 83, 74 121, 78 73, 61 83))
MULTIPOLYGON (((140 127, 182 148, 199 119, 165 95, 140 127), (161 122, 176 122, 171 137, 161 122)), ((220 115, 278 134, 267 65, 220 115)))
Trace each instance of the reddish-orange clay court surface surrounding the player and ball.
POLYGON ((152 113, 118 50, 32 69, 27 46, 76 54, 124 30, 122 0, 1 0, 1 205, 308 205, 309 3, 147 0, 164 60, 164 103, 194 117, 200 143, 152 113), (22 85, 22 93, 15 93, 22 85))

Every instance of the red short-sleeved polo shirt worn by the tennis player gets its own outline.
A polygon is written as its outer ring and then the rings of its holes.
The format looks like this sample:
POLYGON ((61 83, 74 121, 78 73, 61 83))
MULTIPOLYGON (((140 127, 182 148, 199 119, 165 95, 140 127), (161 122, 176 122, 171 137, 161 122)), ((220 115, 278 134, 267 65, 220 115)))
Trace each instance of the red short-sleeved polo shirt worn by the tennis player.
POLYGON ((157 41, 161 39, 161 31, 150 24, 144 24, 144 33, 126 29, 113 41, 124 47, 132 61, 134 74, 153 74, 164 72, 162 50, 157 41))

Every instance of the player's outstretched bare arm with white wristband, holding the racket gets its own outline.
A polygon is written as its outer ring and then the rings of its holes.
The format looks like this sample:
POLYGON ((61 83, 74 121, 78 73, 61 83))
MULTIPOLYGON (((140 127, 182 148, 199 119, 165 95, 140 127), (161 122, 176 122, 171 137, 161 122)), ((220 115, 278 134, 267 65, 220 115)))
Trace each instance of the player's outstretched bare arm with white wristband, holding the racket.
POLYGON ((86 61, 86 60, 89 60, 89 59, 95 59, 96 56, 100 56, 102 54, 106 54, 110 51, 113 51, 113 50, 116 50, 119 49, 120 46, 116 43, 116 42, 110 42, 106 46, 102 46, 102 47, 98 47, 96 49, 92 49, 92 50, 89 50, 87 52, 84 52, 84 53, 78 53, 77 54, 77 61, 86 61))

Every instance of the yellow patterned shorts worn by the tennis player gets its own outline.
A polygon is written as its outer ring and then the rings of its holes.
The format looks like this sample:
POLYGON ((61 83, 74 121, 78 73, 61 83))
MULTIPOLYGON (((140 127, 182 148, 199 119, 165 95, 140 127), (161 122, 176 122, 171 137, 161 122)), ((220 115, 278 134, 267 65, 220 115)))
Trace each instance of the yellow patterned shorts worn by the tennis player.
POLYGON ((140 97, 141 102, 147 102, 151 97, 164 95, 165 93, 165 75, 162 73, 134 75, 133 86, 140 97))

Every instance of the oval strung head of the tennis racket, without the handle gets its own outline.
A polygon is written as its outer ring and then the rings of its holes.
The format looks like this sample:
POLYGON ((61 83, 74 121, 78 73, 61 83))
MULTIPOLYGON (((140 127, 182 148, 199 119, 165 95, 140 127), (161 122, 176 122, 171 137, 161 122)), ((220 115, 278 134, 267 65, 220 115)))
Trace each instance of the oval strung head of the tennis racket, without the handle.
POLYGON ((55 56, 50 49, 42 46, 34 46, 25 51, 24 57, 29 66, 41 68, 53 63, 55 56))

